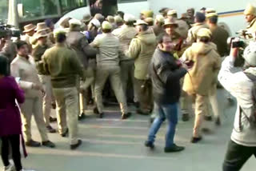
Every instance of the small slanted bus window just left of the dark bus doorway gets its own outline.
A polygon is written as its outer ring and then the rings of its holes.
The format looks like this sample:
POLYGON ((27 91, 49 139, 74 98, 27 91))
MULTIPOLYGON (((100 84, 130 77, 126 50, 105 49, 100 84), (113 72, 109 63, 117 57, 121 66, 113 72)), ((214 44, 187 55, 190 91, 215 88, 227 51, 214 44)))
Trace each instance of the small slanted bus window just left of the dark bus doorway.
POLYGON ((79 7, 87 6, 86 0, 59 0, 62 14, 66 14, 71 10, 79 7))

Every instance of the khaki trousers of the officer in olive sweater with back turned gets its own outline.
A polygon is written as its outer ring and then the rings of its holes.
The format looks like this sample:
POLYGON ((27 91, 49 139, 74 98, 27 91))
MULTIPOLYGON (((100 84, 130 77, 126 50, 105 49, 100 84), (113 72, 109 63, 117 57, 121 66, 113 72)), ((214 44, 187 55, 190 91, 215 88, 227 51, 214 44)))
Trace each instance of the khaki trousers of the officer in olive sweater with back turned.
POLYGON ((68 125, 70 145, 77 144, 79 114, 78 89, 77 87, 70 87, 53 90, 57 103, 58 131, 61 134, 65 133, 68 125))

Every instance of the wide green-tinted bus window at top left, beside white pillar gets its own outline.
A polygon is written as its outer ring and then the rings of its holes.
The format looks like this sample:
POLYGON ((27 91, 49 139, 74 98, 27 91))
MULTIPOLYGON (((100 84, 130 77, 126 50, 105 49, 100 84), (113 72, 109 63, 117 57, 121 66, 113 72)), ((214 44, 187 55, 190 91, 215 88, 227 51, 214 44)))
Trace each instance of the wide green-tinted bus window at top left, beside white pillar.
POLYGON ((58 15, 58 0, 18 0, 18 4, 23 6, 23 21, 58 15))

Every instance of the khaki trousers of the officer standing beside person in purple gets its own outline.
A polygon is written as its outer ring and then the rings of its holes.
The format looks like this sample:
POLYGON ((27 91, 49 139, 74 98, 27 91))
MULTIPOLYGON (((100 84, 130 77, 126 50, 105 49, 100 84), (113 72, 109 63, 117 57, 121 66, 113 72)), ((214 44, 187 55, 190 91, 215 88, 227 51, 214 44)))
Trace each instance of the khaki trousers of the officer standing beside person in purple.
POLYGON ((42 97, 26 98, 20 105, 22 112, 22 129, 25 141, 32 140, 31 135, 31 117, 34 115, 34 121, 38 126, 42 141, 48 141, 46 123, 42 116, 42 97))

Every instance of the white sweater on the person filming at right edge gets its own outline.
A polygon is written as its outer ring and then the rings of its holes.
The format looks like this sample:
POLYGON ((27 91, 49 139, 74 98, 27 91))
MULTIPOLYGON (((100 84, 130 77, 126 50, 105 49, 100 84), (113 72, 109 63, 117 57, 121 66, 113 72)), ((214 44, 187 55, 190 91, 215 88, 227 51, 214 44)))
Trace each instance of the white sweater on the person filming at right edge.
POLYGON ((256 99, 256 96, 254 82, 244 74, 242 68, 234 67, 234 57, 231 56, 222 62, 218 80, 238 101, 231 140, 238 145, 256 146, 256 126, 247 119, 255 118, 254 99, 256 99), (240 124, 239 106, 242 109, 240 124), (240 129, 239 125, 242 126, 242 129, 240 129))

